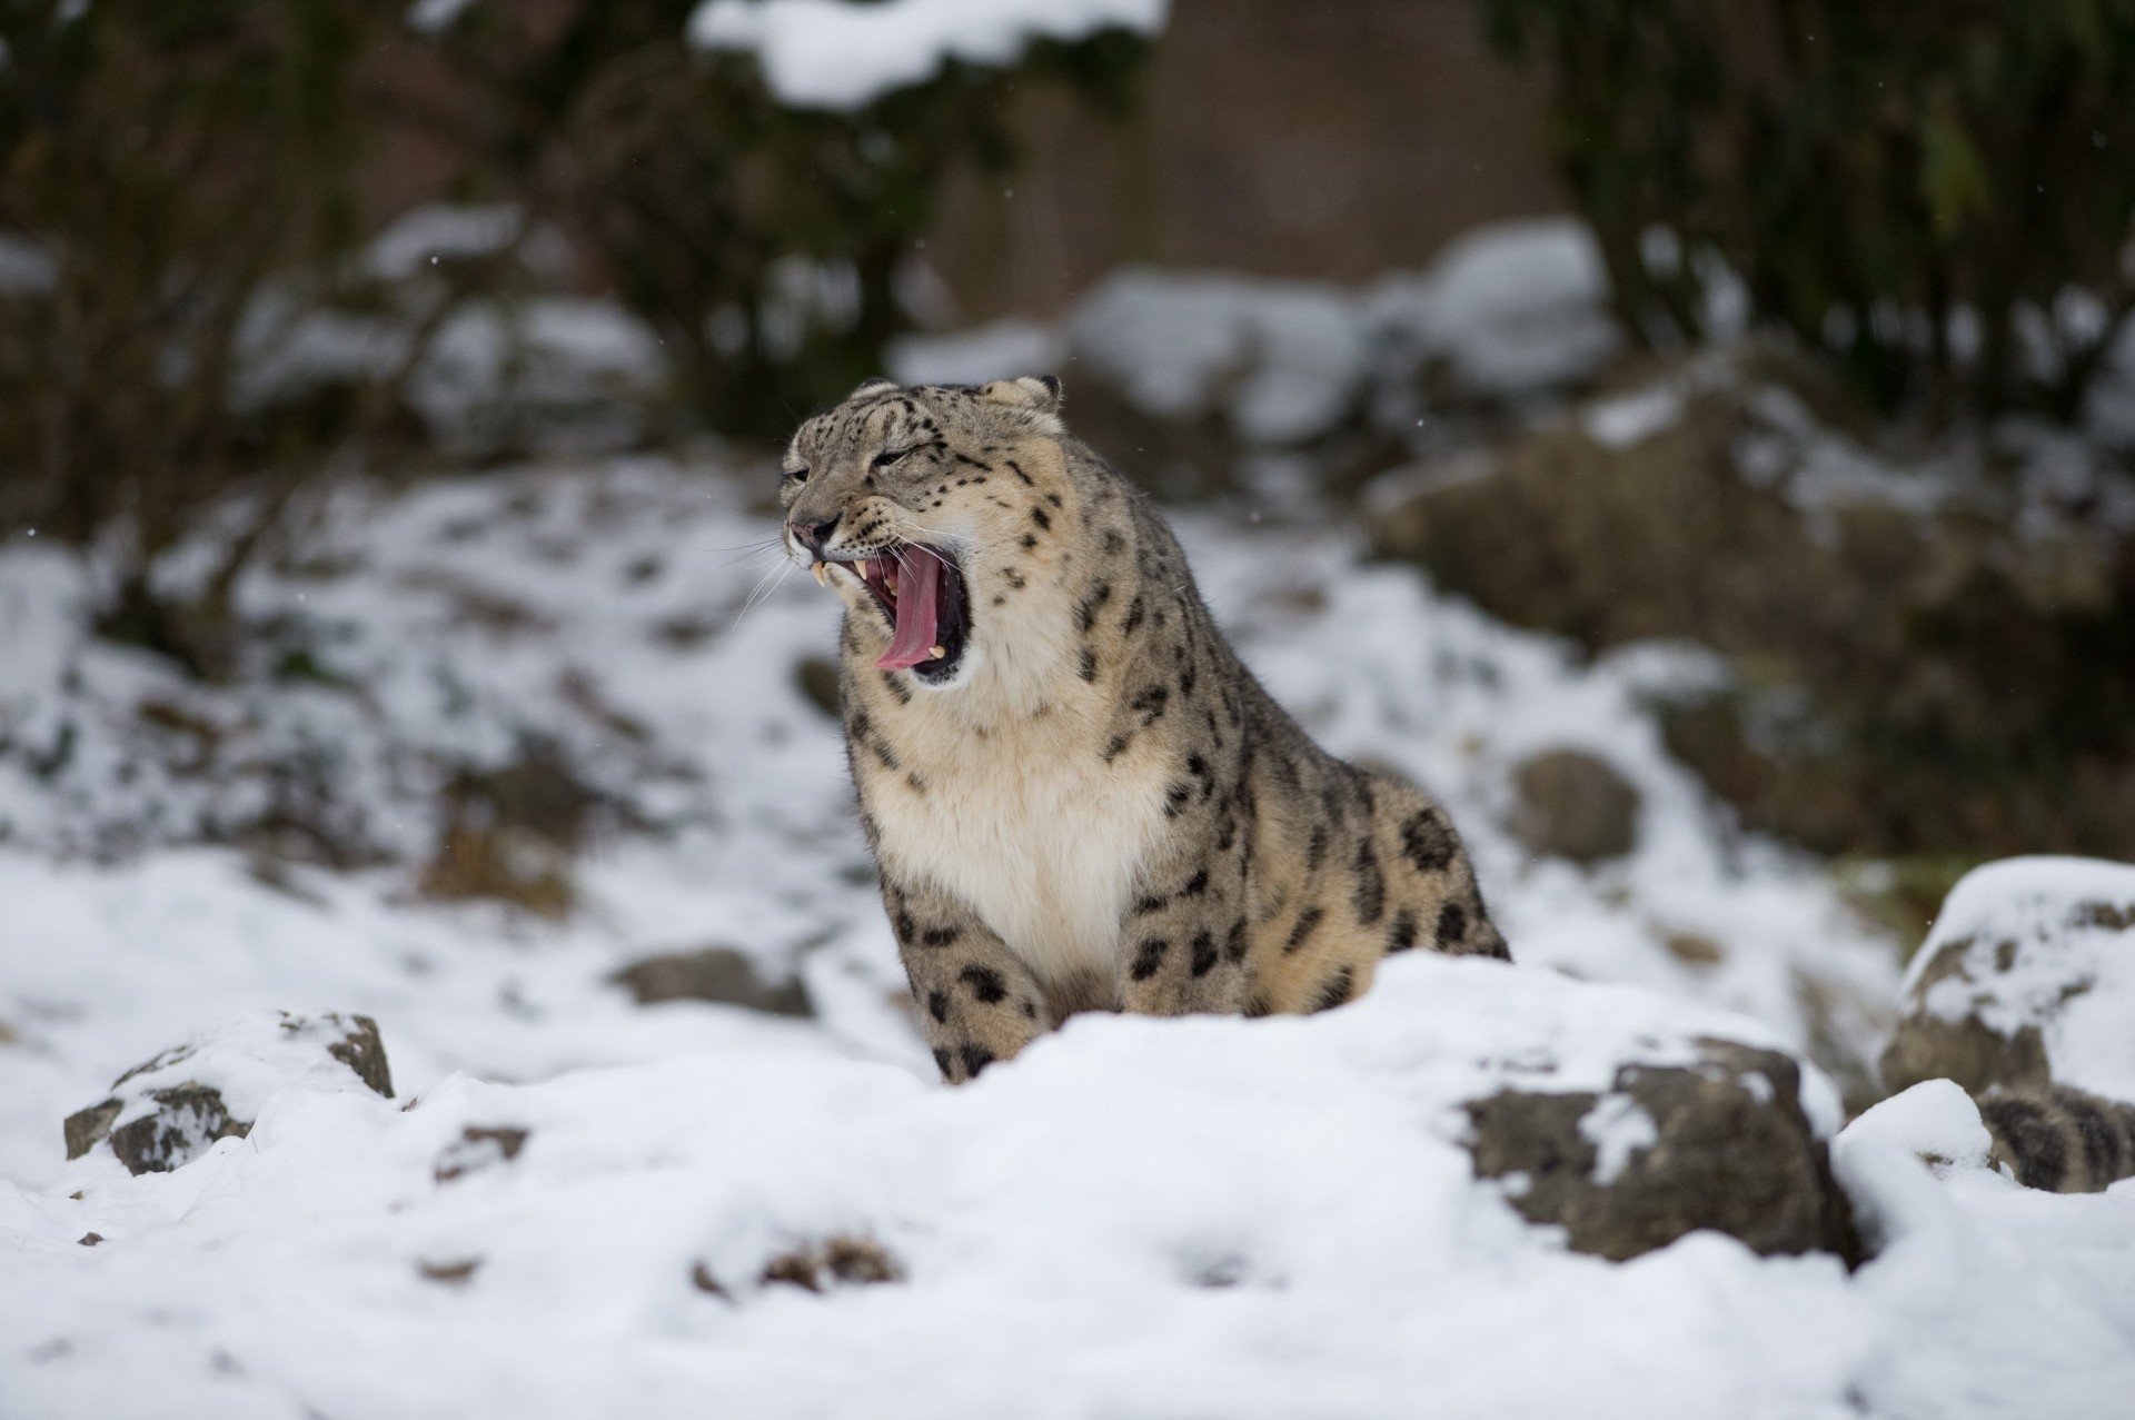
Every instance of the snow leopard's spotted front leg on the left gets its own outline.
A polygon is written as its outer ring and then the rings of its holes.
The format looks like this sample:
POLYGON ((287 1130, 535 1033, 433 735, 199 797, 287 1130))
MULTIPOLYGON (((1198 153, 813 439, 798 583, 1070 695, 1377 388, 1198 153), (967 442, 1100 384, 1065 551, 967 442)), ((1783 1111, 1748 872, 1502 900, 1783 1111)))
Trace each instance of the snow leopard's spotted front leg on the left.
POLYGON ((1050 1025, 1029 967, 954 895, 884 873, 882 901, 944 1080, 969 1080, 1050 1025))

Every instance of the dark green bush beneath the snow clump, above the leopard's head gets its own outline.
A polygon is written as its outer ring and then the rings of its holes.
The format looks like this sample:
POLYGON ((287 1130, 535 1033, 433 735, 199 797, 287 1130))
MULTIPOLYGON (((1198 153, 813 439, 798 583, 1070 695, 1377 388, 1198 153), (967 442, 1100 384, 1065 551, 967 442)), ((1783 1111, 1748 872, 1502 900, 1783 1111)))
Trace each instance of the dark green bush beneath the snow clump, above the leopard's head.
POLYGON ((463 186, 570 231, 660 333, 683 404, 777 436, 882 369, 910 327, 897 278, 961 162, 1006 169, 1010 88, 1119 109, 1144 41, 1035 45, 1018 68, 944 64, 852 111, 788 109, 754 60, 696 53, 696 0, 476 4, 438 58, 463 186))

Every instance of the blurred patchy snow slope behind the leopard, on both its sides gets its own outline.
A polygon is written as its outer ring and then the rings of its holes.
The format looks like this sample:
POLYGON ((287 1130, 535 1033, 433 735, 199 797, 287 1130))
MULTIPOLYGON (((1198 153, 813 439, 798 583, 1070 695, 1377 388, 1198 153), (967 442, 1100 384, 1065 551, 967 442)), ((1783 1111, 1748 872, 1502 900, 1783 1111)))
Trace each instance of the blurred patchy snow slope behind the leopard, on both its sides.
MULTIPOLYGON (((0 1080, 0 1170, 49 1179, 60 1115, 241 1006, 376 1014, 412 1080, 536 1078, 769 1029, 638 1010, 600 984, 709 944, 805 976, 820 1023, 777 1031, 927 1066, 888 1004, 901 974, 839 730, 796 677, 831 653, 835 602, 747 512, 762 483, 615 461, 342 489, 243 583, 246 615, 273 630, 226 688, 90 638, 85 564, 0 557, 0 1021, 17 1066, 0 1080), (568 762, 604 805, 570 869, 576 912, 418 901, 455 775, 527 754, 568 762), (290 824, 378 865, 288 863, 290 824)), ((1328 745, 1452 807, 1522 961, 1872 1057, 1898 995, 1889 944, 1815 865, 1723 833, 1640 709, 1706 675, 1697 653, 1580 666, 1411 570, 1362 566, 1341 532, 1249 515, 1183 530, 1275 694, 1328 745), (1529 861, 1512 771, 1554 747, 1599 754, 1640 790, 1633 854, 1591 873, 1529 861)))

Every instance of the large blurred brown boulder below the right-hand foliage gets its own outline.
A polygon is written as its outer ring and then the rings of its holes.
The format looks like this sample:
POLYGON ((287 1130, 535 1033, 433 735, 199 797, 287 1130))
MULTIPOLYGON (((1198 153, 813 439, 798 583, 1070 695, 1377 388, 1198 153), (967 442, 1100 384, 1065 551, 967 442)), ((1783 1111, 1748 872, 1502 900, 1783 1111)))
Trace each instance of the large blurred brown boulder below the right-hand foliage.
POLYGON ((1879 448, 1776 348, 1644 374, 1388 474, 1377 551, 1591 653, 1731 658, 1663 728, 1753 829, 1832 854, 2135 856, 2129 530, 1968 478, 1962 448, 1879 448))

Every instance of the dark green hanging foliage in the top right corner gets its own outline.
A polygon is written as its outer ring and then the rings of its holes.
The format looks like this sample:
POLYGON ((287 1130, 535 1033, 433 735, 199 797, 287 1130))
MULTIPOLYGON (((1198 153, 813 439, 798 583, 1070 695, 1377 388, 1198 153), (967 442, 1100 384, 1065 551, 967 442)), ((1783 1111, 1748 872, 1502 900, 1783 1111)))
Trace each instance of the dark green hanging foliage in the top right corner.
POLYGON ((1717 254, 1877 410, 2079 410, 2135 305, 2135 2, 1480 4, 1638 335, 1699 333, 1717 254))

